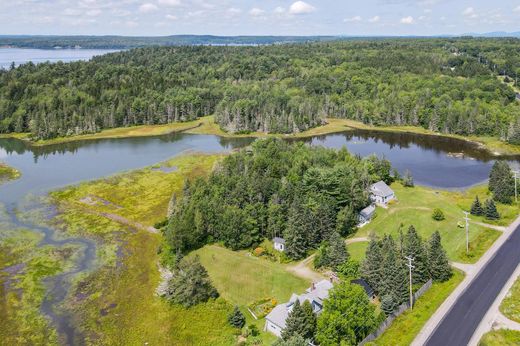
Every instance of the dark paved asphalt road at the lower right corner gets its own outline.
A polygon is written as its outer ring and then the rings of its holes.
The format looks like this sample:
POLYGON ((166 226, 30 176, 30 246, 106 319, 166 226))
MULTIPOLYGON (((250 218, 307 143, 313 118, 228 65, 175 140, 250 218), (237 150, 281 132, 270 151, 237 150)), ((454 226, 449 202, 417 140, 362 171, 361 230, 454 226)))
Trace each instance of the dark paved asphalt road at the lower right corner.
POLYGON ((502 287, 520 263, 520 226, 502 245, 471 285, 459 297, 437 329, 428 346, 466 346, 502 287))

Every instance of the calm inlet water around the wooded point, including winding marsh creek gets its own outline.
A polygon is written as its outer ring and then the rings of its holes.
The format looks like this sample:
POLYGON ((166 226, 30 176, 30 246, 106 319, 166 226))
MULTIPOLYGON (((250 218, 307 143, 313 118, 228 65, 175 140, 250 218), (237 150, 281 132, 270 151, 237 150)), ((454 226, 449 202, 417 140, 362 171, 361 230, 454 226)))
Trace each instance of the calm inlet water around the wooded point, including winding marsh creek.
MULTIPOLYGON (((84 238, 60 239, 56 237, 54 229, 41 222, 25 219, 23 215, 28 210, 24 203, 27 197, 44 195, 50 190, 84 180, 149 166, 190 151, 230 151, 247 146, 252 141, 252 138, 232 139, 179 133, 30 147, 20 140, 0 138, 0 161, 22 172, 20 179, 0 185, 0 211, 6 211, 0 213, 0 224, 43 234, 40 246, 75 245, 82 249, 73 269, 45 280, 49 294, 41 310, 51 318, 65 344, 75 343, 75 340, 81 340, 81 336, 72 324, 71 316, 57 307, 65 299, 71 279, 94 268, 96 244, 84 238)), ((487 179, 495 159, 469 142, 403 133, 356 130, 299 141, 331 148, 346 146, 361 156, 384 156, 401 173, 410 170, 417 184, 437 188, 464 188, 480 183, 487 179)), ((515 164, 519 162, 518 158, 508 159, 515 164)), ((45 213, 47 218, 52 216, 52 210, 45 213)))

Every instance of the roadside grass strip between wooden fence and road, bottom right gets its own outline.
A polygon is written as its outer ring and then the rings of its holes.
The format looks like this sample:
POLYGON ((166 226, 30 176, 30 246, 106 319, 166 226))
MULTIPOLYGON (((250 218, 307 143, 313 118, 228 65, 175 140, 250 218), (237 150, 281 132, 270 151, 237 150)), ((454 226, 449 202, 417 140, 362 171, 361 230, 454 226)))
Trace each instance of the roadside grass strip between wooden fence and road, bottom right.
POLYGON ((451 292, 462 282, 464 275, 454 270, 452 278, 443 283, 434 283, 417 300, 413 310, 406 310, 397 317, 392 325, 372 343, 367 345, 401 346, 410 345, 428 319, 441 306, 451 292))

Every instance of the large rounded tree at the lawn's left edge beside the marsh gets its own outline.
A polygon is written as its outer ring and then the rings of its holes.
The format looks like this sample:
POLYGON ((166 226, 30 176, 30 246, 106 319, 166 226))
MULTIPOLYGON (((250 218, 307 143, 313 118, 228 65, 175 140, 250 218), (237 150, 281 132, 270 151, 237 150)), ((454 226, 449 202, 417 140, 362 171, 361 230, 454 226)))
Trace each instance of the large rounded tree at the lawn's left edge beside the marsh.
POLYGON ((218 292, 199 257, 183 258, 168 282, 166 298, 172 303, 190 307, 217 297, 218 292))

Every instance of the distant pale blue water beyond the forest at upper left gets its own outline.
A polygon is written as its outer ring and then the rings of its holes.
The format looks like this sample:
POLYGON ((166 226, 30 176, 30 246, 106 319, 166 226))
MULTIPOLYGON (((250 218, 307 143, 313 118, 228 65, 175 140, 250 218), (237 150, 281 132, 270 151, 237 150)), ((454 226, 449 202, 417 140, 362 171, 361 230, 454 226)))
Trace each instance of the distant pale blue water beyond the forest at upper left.
POLYGON ((11 63, 16 66, 32 61, 35 64, 50 62, 71 62, 89 60, 93 56, 117 52, 113 49, 32 49, 0 48, 0 68, 8 69, 11 63))

